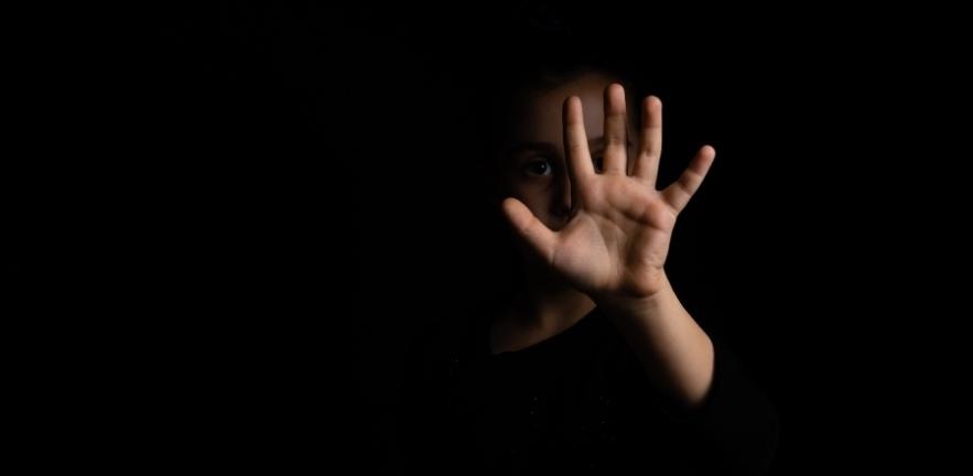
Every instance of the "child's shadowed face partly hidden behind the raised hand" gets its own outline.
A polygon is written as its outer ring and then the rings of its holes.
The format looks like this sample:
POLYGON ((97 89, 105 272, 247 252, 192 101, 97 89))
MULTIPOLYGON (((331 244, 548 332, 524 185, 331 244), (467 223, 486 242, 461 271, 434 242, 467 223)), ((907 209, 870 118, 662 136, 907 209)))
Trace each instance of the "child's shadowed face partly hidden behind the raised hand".
MULTIPOLYGON (((604 150, 603 93, 612 82, 603 75, 579 76, 554 89, 531 95, 515 118, 511 152, 500 162, 501 183, 508 196, 523 202, 551 229, 564 227, 571 213, 571 184, 565 169, 561 126, 562 105, 570 96, 581 98, 588 147, 598 170, 604 150)), ((629 141, 633 137, 635 133, 629 123, 629 141)))

